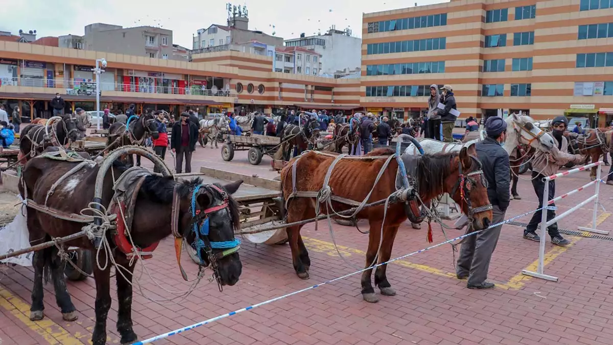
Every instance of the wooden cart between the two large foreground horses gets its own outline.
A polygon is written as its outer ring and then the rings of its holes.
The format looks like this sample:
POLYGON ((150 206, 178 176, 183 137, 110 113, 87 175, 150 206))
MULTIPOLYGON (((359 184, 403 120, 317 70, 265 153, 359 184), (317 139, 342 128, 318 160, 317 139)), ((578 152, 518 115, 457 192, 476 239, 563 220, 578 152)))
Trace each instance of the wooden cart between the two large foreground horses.
MULTIPOLYGON (((284 244, 287 242, 287 232, 284 228, 257 232, 257 228, 280 224, 283 221, 280 181, 204 166, 200 168, 199 177, 202 178, 204 184, 224 185, 237 180, 244 181, 237 192, 232 195, 240 206, 240 231, 250 232, 240 235, 243 241, 255 244, 284 244)), ((186 176, 186 178, 189 177, 186 176)), ((188 247, 188 253, 192 260, 198 263, 196 250, 188 247)))

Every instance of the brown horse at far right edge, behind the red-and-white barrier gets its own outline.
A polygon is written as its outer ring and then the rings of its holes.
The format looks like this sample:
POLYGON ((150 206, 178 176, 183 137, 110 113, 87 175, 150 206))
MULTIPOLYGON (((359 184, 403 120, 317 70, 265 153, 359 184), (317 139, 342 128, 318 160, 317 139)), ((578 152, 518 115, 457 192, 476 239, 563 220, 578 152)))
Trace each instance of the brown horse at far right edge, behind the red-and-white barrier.
MULTIPOLYGON (((595 128, 586 130, 585 134, 576 134, 572 132, 564 133, 568 138, 569 152, 580 155, 587 155, 585 164, 588 161, 596 162, 600 160, 602 155, 613 150, 613 130, 611 128, 595 128)), ((590 177, 596 179, 596 169, 599 167, 593 166, 590 169, 590 177)))

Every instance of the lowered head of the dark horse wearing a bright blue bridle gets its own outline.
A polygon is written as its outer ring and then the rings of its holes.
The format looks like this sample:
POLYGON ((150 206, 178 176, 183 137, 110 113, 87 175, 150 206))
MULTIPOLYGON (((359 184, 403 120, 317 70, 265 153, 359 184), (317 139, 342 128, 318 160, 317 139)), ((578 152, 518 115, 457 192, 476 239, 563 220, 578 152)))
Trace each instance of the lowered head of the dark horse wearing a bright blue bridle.
POLYGON ((224 186, 207 185, 201 179, 193 179, 178 184, 174 190, 180 209, 178 233, 174 234, 177 255, 185 239, 196 249, 202 265, 213 269, 219 285, 236 284, 242 272, 240 241, 234 236, 240 228, 240 213, 231 196, 242 183, 239 180, 224 186))

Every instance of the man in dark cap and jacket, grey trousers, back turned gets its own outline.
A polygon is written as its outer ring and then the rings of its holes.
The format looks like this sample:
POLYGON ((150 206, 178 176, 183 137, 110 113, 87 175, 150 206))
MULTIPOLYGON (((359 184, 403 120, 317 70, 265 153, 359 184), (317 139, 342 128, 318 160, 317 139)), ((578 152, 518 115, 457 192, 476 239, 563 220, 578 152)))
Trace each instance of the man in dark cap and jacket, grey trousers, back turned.
MULTIPOLYGON (((506 122, 494 116, 485 122, 487 138, 476 144, 477 156, 483 166, 483 174, 487 180, 487 196, 492 204, 492 224, 504 220, 504 212, 509 207, 509 187, 511 167, 509 155, 502 148, 506 140, 506 122)), ((502 225, 489 228, 480 233, 468 236, 462 243, 460 257, 457 262, 456 275, 458 279, 468 278, 468 289, 492 289, 494 284, 488 281, 492 253, 498 243, 502 225)))

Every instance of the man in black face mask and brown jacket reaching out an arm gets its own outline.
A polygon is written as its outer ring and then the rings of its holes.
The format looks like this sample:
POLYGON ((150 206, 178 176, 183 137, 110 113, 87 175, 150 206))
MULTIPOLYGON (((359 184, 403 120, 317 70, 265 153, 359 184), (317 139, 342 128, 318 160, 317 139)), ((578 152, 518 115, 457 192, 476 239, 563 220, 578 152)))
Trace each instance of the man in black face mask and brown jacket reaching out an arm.
MULTIPOLYGON (((535 188, 536 196, 538 197, 538 208, 543 207, 543 191, 545 189, 545 183, 543 178, 557 174, 560 166, 566 163, 573 162, 575 164, 582 164, 585 161, 585 157, 582 155, 571 155, 568 153, 568 141, 563 136, 564 131, 568 128, 568 119, 563 116, 554 118, 551 122, 552 135, 555 139, 555 145, 551 152, 544 152, 536 150, 534 158, 532 159, 532 187, 535 188)), ((549 195, 547 200, 555 198, 555 180, 549 182, 549 195)), ((555 206, 551 204, 550 206, 555 206)), ((532 215, 530 223, 524 230, 524 238, 531 241, 539 242, 541 238, 536 235, 536 229, 541 225, 542 210, 536 211, 532 215)), ((555 211, 547 209, 547 222, 555 218, 555 211)), ((568 239, 565 239, 560 235, 558 231, 558 223, 553 223, 547 227, 551 242, 557 246, 568 246, 570 243, 568 239)))

